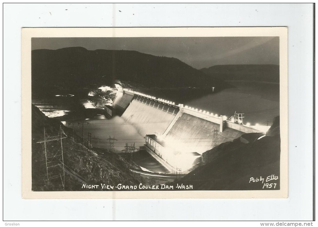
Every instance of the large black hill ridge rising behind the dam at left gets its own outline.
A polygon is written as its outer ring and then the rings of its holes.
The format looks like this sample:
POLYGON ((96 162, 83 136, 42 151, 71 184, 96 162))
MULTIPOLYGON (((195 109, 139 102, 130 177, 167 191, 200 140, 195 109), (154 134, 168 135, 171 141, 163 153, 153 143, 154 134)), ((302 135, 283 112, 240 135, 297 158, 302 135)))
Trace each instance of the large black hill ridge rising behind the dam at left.
POLYGON ((39 49, 32 50, 31 58, 32 90, 112 84, 116 79, 148 87, 202 87, 219 82, 176 58, 137 51, 82 47, 39 49))

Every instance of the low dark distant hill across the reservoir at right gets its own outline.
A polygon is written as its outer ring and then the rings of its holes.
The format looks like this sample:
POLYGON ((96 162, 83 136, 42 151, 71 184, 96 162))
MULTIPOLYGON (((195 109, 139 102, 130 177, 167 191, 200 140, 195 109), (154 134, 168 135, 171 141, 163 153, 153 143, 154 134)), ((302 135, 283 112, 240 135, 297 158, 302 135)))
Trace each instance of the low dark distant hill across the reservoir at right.
POLYGON ((221 80, 264 81, 279 83, 279 65, 215 65, 201 69, 221 80))

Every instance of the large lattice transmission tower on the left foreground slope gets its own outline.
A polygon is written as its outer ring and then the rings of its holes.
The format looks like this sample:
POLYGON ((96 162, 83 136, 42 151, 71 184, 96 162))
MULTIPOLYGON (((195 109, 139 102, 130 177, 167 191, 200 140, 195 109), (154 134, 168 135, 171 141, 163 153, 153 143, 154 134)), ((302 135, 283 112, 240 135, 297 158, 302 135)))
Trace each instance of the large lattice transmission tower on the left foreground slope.
POLYGON ((62 131, 60 126, 59 134, 57 136, 49 136, 45 132, 44 139, 37 143, 44 143, 45 151, 45 164, 46 164, 46 187, 49 189, 49 181, 53 179, 60 179, 65 187, 65 171, 64 171, 64 159, 63 159, 63 145, 62 139, 67 136, 62 131))

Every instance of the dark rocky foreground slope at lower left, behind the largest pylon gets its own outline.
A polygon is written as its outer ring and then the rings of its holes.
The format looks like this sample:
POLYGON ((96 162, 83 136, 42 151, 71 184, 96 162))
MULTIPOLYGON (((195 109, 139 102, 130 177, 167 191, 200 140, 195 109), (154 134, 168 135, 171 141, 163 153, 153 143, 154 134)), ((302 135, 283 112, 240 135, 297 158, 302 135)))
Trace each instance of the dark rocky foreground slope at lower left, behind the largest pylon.
MULTIPOLYGON (((36 143, 44 137, 44 127, 49 136, 58 135, 61 122, 49 119, 37 107, 32 106, 32 190, 46 191, 45 178, 45 152, 44 144, 36 143)), ((80 137, 71 138, 71 128, 62 125, 63 133, 68 138, 63 139, 63 156, 66 168, 65 188, 60 179, 52 180, 49 184, 50 191, 83 191, 83 182, 87 184, 118 183, 137 185, 143 182, 139 175, 131 172, 129 168, 136 167, 128 163, 123 157, 108 152, 107 150, 88 150, 78 143, 80 137)), ((86 189, 89 190, 89 189, 86 189)), ((96 189, 95 189, 96 190, 96 189)), ((101 188, 97 189, 101 190, 101 188)))

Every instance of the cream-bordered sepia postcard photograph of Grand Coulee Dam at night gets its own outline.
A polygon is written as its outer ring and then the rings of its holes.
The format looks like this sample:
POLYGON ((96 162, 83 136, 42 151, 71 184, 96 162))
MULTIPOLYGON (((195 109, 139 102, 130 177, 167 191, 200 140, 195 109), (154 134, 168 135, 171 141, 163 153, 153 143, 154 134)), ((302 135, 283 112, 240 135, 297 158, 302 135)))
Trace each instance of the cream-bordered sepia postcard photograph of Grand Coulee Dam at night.
POLYGON ((26 194, 287 197, 286 27, 54 29, 22 31, 26 194))

